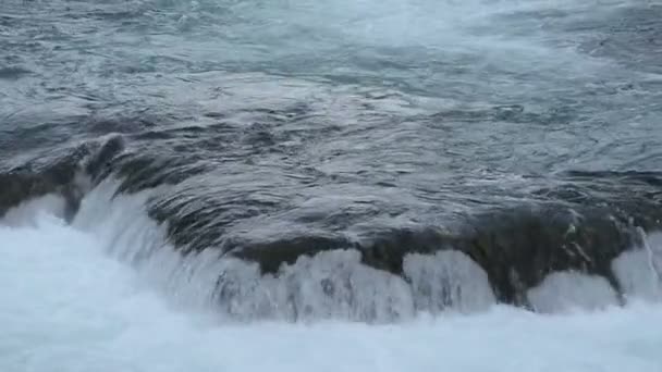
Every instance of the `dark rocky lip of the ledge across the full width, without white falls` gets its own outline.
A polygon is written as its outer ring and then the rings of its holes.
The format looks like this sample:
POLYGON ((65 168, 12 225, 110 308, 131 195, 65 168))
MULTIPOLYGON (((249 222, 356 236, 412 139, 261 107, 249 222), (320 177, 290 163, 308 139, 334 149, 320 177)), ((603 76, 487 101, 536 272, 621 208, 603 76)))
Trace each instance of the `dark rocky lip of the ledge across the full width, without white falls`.
POLYGON ((565 176, 571 183, 540 189, 534 194, 540 197, 538 201, 466 213, 452 228, 425 222, 383 227, 363 220, 379 215, 379 204, 331 209, 311 218, 297 214, 291 200, 250 188, 231 189, 219 197, 213 188, 181 186, 205 173, 205 165, 196 165, 195 159, 159 160, 123 151, 123 138, 114 136, 72 149, 46 164, 34 161, 0 173, 0 215, 26 199, 57 193, 65 198, 66 218, 72 219, 84 195, 76 175, 84 173, 96 183, 115 174, 122 177, 118 193, 163 184, 179 187, 172 197, 152 200, 148 211, 157 221, 168 222, 169 237, 183 255, 219 249, 220 255, 257 262, 262 273, 278 275, 284 264, 299 257, 356 249, 364 264, 406 281, 403 260, 407 255, 454 249, 486 271, 500 301, 523 307, 528 307, 527 290, 556 271, 600 275, 620 292, 612 261, 640 247, 642 231, 662 227, 662 176, 654 172, 568 172, 565 176), (252 226, 280 220, 303 227, 246 235, 252 226), (359 222, 359 233, 350 234, 359 222))

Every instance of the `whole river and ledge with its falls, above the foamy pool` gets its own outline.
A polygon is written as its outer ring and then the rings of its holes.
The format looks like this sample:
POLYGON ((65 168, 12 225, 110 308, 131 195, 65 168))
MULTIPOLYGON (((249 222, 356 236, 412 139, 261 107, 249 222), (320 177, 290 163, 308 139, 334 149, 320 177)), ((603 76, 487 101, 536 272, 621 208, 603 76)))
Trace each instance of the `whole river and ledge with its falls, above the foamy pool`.
POLYGON ((662 298, 662 5, 9 1, 0 216, 230 319, 662 298))

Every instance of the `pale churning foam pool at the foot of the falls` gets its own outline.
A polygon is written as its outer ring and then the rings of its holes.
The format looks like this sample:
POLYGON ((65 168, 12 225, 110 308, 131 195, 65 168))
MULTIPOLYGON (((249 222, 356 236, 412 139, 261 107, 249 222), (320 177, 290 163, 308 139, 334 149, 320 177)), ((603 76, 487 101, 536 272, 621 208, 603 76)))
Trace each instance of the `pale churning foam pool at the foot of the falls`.
POLYGON ((101 234, 30 210, 0 227, 3 372, 662 370, 654 302, 554 315, 493 306, 388 325, 228 322, 156 290, 101 234))

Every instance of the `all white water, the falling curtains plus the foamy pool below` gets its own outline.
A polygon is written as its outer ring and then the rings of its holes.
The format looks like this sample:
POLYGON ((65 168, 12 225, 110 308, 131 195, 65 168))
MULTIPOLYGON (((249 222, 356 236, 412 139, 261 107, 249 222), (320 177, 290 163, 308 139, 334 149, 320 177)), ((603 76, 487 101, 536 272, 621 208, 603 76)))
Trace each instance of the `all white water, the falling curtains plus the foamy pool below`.
MULTIPOLYGON (((485 273, 455 252, 408 258, 407 272, 417 273, 410 285, 359 266, 352 252, 302 259, 280 280, 260 278, 249 264, 219 261, 205 252, 182 259, 168 248, 163 231, 146 219, 140 208, 145 196, 111 201, 112 190, 108 183, 87 195, 72 225, 57 216, 52 198, 34 200, 11 214, 29 209, 29 219, 10 224, 8 214, 2 220, 3 371, 660 367, 660 337, 653 326, 662 321, 655 300, 660 292, 651 289, 653 275, 641 270, 650 263, 643 251, 624 253, 615 262, 626 292, 638 298, 625 308, 615 305, 605 283, 568 273, 535 289, 534 302, 541 310, 565 307, 562 314, 542 315, 495 306, 485 273), (235 296, 225 299, 233 303, 219 303, 212 294, 219 272, 237 281, 235 296), (312 288, 319 283, 351 287, 326 297, 312 288), (293 302, 284 300, 289 296, 295 297, 293 302), (352 296, 354 302, 347 300, 352 296), (436 318, 429 312, 413 317, 417 308, 449 303, 474 313, 446 310, 436 318), (266 315, 289 320, 291 305, 303 309, 302 319, 315 321, 256 321, 266 315), (391 325, 342 321, 368 314, 373 320, 402 318, 391 325), (237 318, 252 322, 236 323, 237 318)), ((649 239, 651 249, 661 247, 659 240, 649 239)))

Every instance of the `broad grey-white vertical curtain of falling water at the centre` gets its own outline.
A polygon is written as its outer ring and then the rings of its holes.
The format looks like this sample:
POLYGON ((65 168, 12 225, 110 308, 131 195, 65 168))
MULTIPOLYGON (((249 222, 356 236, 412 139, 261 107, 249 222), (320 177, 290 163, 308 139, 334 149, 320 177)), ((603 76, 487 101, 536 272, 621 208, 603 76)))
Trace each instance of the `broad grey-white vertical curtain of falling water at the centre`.
POLYGON ((278 276, 260 277, 257 265, 225 260, 218 303, 240 319, 402 320, 414 314, 404 281, 359 263, 357 251, 302 257, 278 276))

